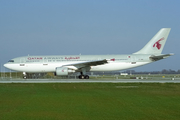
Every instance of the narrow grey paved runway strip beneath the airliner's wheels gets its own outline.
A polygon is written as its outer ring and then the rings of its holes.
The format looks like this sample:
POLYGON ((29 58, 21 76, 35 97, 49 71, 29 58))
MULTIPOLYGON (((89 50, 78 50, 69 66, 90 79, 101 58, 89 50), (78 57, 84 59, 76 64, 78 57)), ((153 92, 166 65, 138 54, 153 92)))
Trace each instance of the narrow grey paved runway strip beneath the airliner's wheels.
POLYGON ((0 83, 180 83, 174 80, 147 80, 147 79, 0 79, 0 83))

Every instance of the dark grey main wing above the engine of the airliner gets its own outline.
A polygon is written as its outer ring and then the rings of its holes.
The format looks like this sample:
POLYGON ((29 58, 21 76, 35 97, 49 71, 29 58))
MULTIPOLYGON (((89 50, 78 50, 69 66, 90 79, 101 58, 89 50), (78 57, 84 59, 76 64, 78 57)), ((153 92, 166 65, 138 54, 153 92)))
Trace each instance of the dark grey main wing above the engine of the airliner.
POLYGON ((95 60, 95 61, 87 61, 87 62, 80 62, 80 63, 75 63, 75 64, 67 64, 64 66, 74 66, 77 69, 83 68, 83 67, 90 67, 90 66, 97 66, 97 65, 103 65, 108 63, 108 60, 95 60))

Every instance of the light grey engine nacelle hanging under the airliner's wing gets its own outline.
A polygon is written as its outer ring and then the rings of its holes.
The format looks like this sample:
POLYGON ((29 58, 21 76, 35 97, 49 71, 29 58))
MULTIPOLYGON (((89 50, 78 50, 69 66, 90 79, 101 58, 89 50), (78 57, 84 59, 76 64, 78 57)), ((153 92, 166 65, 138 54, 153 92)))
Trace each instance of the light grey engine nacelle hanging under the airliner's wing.
POLYGON ((75 70, 69 69, 67 67, 57 67, 55 75, 57 76, 67 76, 70 73, 75 72, 75 70))

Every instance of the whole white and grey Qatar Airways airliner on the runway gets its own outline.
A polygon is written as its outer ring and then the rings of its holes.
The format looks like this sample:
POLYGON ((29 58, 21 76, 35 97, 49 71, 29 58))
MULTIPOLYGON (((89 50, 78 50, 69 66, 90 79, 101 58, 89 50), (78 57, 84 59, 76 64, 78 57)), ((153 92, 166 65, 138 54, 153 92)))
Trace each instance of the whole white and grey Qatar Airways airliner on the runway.
POLYGON ((141 50, 133 54, 24 56, 11 59, 4 66, 23 73, 54 72, 57 76, 80 72, 79 79, 89 79, 86 75, 89 71, 124 70, 173 55, 161 54, 170 30, 162 28, 141 50))

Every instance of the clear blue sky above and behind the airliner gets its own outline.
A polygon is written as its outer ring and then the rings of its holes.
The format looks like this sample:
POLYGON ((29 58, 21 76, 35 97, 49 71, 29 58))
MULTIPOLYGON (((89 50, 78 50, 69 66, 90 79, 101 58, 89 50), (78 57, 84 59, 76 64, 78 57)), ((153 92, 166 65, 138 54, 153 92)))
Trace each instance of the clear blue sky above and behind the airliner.
POLYGON ((163 54, 175 55, 133 70, 179 70, 179 5, 179 0, 0 0, 0 63, 27 55, 131 54, 161 28, 171 28, 163 54))

